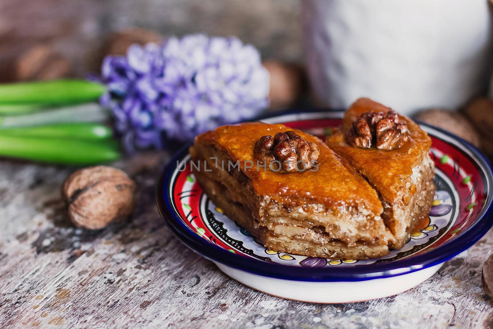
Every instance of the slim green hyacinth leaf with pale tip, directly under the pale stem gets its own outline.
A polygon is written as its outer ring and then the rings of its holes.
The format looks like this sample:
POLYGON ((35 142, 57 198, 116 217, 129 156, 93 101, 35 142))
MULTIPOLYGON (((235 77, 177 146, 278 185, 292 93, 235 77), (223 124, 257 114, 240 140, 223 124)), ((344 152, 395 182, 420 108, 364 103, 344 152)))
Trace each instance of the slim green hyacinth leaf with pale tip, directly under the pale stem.
POLYGON ((111 128, 90 122, 62 123, 45 126, 0 128, 0 136, 67 138, 82 140, 104 140, 111 138, 111 128))

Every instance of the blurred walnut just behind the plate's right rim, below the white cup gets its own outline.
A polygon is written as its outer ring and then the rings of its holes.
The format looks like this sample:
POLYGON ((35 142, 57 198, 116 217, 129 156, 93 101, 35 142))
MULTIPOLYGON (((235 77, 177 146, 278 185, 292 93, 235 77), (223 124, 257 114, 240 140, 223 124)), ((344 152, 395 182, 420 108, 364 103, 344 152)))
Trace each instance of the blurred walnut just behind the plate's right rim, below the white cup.
POLYGON ((476 147, 481 146, 481 138, 476 128, 459 112, 430 109, 418 113, 416 119, 450 131, 476 147))

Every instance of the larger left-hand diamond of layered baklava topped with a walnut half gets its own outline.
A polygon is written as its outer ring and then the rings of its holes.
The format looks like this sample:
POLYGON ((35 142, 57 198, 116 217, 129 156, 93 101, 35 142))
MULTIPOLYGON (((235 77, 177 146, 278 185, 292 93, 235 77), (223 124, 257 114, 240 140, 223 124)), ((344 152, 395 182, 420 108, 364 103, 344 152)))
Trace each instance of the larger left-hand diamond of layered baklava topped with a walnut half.
POLYGON ((379 194, 318 138, 281 124, 222 126, 190 148, 214 204, 266 247, 363 259, 395 243, 379 194))

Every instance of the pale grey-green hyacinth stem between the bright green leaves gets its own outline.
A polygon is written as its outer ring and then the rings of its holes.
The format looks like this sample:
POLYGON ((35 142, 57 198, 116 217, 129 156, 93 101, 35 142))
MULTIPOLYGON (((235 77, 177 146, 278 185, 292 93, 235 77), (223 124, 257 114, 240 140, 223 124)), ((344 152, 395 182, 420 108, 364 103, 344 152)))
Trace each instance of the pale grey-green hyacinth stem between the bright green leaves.
POLYGON ((0 116, 0 128, 25 127, 64 122, 103 122, 109 112, 99 104, 89 103, 41 112, 0 116))

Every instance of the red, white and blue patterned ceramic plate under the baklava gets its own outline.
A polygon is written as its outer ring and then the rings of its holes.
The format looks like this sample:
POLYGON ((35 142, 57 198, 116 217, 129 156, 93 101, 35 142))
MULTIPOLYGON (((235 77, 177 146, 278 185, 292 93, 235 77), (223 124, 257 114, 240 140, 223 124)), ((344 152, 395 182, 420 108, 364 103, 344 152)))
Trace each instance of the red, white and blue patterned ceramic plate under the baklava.
MULTIPOLYGON (((265 118, 322 140, 341 122, 341 111, 290 113, 265 118)), ((469 143, 422 124, 431 136, 436 195, 427 224, 389 255, 367 260, 325 259, 266 249, 225 216, 202 192, 190 170, 188 147, 178 151, 161 177, 157 204, 162 218, 189 248, 227 275, 284 298, 341 303, 408 290, 448 259, 477 242, 493 225, 493 175, 469 143)))

